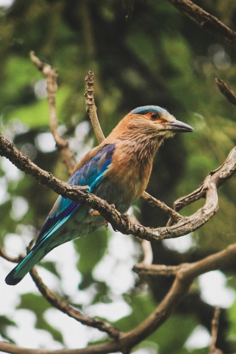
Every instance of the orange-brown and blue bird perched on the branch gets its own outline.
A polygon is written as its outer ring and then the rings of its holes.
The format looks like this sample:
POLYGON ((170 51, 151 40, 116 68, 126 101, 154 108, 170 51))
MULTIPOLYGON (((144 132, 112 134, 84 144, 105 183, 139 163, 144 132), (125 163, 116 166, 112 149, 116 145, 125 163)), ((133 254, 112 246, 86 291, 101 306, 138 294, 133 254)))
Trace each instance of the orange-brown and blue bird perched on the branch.
MULTIPOLYGON (((110 135, 77 163, 68 181, 89 186, 123 215, 146 189, 153 159, 164 139, 194 129, 156 105, 131 110, 110 135)), ((59 196, 28 255, 6 276, 16 285, 48 252, 104 225, 92 209, 59 196)))

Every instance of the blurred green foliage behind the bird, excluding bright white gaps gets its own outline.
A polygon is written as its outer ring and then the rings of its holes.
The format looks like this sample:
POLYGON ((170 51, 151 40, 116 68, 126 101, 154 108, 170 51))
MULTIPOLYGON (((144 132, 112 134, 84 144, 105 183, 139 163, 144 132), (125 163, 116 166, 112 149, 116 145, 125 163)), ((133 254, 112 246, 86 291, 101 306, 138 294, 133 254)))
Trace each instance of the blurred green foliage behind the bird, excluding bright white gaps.
MULTIPOLYGON (((148 192, 171 205, 179 196, 196 189, 207 173, 223 163, 235 145, 235 108, 214 82, 214 78, 219 77, 236 89, 235 52, 200 30, 166 0, 137 0, 132 17, 126 19, 128 3, 122 0, 15 0, 11 7, 1 7, 1 131, 23 152, 30 157, 32 154, 37 165, 66 179, 58 152, 52 149, 44 153, 42 146, 37 144, 40 134, 49 131, 48 107, 46 98, 40 98, 36 91, 36 84, 43 77, 30 61, 29 51, 34 50, 40 59, 58 69, 59 125, 76 157, 81 156, 84 147, 82 143, 75 144, 73 137, 80 131, 79 124, 88 121, 83 97, 84 78, 88 70, 93 70, 95 101, 105 135, 125 113, 146 104, 165 107, 177 119, 195 128, 191 135, 166 141, 154 163, 148 192)), ((199 0, 197 4, 226 24, 233 26, 235 23, 235 2, 199 0)), ((43 89, 41 91, 43 95, 43 89)), ((92 130, 84 134, 85 142, 90 137, 94 137, 92 130)), ((19 234, 19 224, 32 225, 36 236, 56 198, 54 193, 30 176, 22 174, 19 179, 12 180, 3 162, 0 164, 0 186, 6 192, 0 204, 2 242, 7 233, 19 234), (28 212, 20 219, 11 212, 16 196, 23 196, 29 205, 28 212)), ((235 200, 233 177, 220 188, 220 208, 216 217, 192 235, 191 249, 179 253, 156 242, 153 244, 154 262, 191 262, 234 242, 235 200)), ((165 224, 166 217, 149 205, 140 201, 137 205, 138 218, 144 225, 165 224)), ((188 215, 199 205, 200 202, 190 205, 183 213, 188 215)), ((79 255, 77 269, 82 274, 79 289, 86 291, 95 286, 97 293, 90 301, 93 304, 105 303, 105 298, 114 297, 109 284, 96 280, 93 273, 107 254, 108 236, 105 229, 101 229, 75 241, 79 255)), ((44 266, 58 275, 53 263, 45 262, 44 266)), ((225 270, 226 276, 234 273, 235 265, 225 270)), ((134 290, 121 294, 132 311, 116 322, 122 330, 130 330, 152 313, 169 288, 170 280, 161 278, 150 280, 148 284, 150 290, 146 292, 142 281, 136 280, 134 290)), ((229 284, 235 289, 235 281, 229 281, 229 284)), ((70 296, 67 300, 70 302, 70 296)), ((81 307, 79 301, 77 306, 81 307)), ((18 306, 30 308, 37 316, 36 328, 47 330, 56 341, 63 343, 59 330, 43 317, 49 307, 41 296, 27 292, 21 295, 18 306)), ((236 302, 223 311, 220 322, 217 345, 225 354, 236 351, 235 309, 236 302)), ((197 324, 210 329, 212 314, 212 306, 201 299, 195 284, 186 304, 180 305, 177 313, 142 343, 142 348, 149 353, 149 344, 155 343, 159 354, 187 354, 189 350, 183 346, 190 333, 197 324)), ((3 338, 10 339, 5 328, 12 324, 10 318, 1 316, 3 338)), ((192 354, 207 352, 207 349, 191 350, 192 354)))

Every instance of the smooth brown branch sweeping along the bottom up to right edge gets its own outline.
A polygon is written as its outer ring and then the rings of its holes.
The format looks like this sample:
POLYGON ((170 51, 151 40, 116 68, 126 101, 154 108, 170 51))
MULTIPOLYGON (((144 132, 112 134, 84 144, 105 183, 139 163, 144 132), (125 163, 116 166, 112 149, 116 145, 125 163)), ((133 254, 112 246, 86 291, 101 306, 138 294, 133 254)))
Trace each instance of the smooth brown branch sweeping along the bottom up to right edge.
POLYGON ((194 279, 211 270, 222 269, 235 262, 236 244, 194 263, 184 263, 179 266, 171 289, 161 301, 157 309, 140 325, 127 333, 122 333, 118 341, 94 344, 83 349, 26 349, 15 344, 0 342, 0 350, 11 354, 106 354, 114 352, 129 352, 134 346, 147 338, 169 318, 178 304, 187 294, 194 279))

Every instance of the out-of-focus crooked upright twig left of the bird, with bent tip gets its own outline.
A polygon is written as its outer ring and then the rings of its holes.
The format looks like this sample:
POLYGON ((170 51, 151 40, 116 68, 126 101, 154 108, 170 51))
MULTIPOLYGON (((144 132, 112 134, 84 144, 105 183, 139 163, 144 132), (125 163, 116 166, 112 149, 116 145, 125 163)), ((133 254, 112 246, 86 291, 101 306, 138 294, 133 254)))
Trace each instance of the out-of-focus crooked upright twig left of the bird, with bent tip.
POLYGON ((42 63, 37 58, 33 51, 30 52, 30 58, 35 63, 36 67, 42 71, 47 79, 47 100, 50 116, 50 128, 54 137, 57 148, 60 150, 62 159, 66 165, 68 174, 70 175, 75 167, 73 160, 73 153, 69 148, 69 144, 63 138, 58 131, 57 112, 56 112, 56 91, 57 91, 57 70, 51 68, 49 64, 42 63))

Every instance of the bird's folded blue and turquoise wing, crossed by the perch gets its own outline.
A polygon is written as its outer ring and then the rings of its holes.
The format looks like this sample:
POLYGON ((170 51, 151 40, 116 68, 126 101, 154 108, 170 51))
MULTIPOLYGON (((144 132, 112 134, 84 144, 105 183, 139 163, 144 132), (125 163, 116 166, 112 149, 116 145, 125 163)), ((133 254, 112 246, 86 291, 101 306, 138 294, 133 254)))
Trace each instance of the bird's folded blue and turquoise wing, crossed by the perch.
MULTIPOLYGON (((93 192, 94 188, 104 178, 105 171, 112 162, 114 149, 115 144, 106 144, 100 149, 91 150, 75 167, 68 183, 88 185, 88 192, 93 192)), ((59 196, 39 233, 36 244, 45 241, 52 235, 80 206, 81 204, 59 196)))

